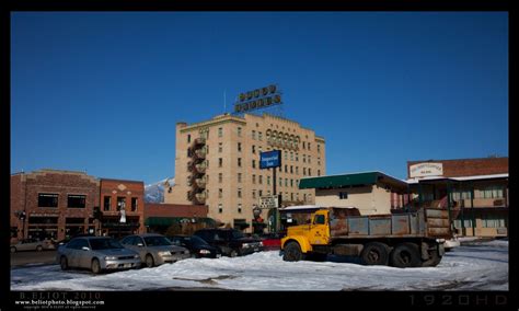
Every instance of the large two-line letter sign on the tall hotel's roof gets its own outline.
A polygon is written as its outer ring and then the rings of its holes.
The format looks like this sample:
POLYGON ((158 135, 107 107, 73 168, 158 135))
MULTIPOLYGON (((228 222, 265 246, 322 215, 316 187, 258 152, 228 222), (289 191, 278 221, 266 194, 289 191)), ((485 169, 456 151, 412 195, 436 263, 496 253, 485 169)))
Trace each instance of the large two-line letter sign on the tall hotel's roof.
POLYGON ((281 104, 281 93, 276 84, 240 93, 234 104, 234 113, 245 113, 249 111, 266 108, 281 104))

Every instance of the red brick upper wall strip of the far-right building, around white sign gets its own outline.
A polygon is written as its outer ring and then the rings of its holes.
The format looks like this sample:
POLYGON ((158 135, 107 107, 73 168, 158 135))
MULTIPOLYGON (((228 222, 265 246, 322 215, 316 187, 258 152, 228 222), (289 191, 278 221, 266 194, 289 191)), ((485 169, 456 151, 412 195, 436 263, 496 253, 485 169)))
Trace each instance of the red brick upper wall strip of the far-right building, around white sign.
POLYGON ((427 160, 407 161, 407 177, 410 177, 411 165, 426 162, 443 163, 443 176, 446 177, 508 173, 508 158, 427 160))

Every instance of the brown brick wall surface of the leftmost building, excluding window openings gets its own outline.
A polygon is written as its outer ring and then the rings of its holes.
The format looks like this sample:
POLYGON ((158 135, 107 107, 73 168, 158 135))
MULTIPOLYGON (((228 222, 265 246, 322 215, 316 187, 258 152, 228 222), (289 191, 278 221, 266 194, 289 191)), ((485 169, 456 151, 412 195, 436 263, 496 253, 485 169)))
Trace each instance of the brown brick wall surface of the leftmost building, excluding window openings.
MULTIPOLYGON (((28 234, 31 216, 57 216, 58 240, 65 238, 65 230, 61 229, 66 226, 67 217, 84 218, 84 228, 88 228, 89 218, 93 216, 93 207, 99 201, 99 184, 94 177, 81 172, 42 170, 23 174, 25 182, 21 182, 21 174, 11 176, 11 223, 14 221, 21 229, 21 221, 15 218, 14 212, 25 209, 25 237, 28 234), (39 193, 58 194, 58 207, 38 207, 39 193), (69 194, 85 195, 85 208, 67 208, 69 194)), ((21 232, 19 238, 22 238, 21 232)))

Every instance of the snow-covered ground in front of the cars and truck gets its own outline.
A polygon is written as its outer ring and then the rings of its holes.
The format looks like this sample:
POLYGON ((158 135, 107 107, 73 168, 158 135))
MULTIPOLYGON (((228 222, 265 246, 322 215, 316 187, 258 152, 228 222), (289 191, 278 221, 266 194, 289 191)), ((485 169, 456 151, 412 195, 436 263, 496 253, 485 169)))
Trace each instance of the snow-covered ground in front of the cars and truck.
POLYGON ((508 290, 508 241, 473 242, 445 255, 437 267, 284 262, 278 252, 244 257, 184 260, 154 268, 93 276, 58 265, 11 270, 12 290, 508 290))

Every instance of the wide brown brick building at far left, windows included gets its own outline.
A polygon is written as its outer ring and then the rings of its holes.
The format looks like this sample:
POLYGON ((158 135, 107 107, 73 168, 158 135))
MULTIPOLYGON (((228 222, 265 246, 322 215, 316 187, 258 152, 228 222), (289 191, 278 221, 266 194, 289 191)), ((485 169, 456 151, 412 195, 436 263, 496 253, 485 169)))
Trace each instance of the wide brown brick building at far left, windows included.
POLYGON ((85 173, 41 170, 13 174, 11 238, 61 240, 94 230, 93 207, 97 204, 99 181, 85 173))

